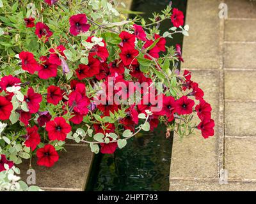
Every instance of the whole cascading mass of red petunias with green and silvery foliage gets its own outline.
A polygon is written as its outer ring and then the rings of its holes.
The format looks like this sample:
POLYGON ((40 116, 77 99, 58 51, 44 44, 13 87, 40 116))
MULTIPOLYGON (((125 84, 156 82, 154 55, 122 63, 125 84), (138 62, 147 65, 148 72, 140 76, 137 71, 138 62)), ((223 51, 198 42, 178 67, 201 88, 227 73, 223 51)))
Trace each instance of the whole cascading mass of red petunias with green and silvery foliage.
POLYGON ((177 69, 180 45, 166 47, 188 35, 182 11, 168 5, 146 24, 118 4, 0 0, 0 171, 33 155, 50 167, 67 139, 112 154, 160 123, 166 137, 214 135, 204 92, 177 69))

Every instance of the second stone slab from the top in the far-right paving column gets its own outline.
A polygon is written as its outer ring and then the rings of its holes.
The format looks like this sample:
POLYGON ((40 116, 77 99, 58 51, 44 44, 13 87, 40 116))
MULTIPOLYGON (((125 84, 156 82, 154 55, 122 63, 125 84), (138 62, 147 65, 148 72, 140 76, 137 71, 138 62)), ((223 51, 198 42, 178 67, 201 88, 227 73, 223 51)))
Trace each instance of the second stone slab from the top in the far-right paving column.
POLYGON ((256 41, 256 20, 225 20, 225 41, 256 41))

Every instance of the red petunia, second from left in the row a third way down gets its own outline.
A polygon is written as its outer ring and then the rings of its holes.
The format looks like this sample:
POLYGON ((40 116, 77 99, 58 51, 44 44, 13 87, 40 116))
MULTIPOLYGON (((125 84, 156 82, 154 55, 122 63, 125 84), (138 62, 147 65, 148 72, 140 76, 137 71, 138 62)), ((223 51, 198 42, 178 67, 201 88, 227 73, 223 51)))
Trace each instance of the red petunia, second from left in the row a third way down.
POLYGON ((51 64, 46 56, 40 57, 40 69, 38 70, 38 77, 42 79, 48 79, 57 76, 57 64, 51 64))

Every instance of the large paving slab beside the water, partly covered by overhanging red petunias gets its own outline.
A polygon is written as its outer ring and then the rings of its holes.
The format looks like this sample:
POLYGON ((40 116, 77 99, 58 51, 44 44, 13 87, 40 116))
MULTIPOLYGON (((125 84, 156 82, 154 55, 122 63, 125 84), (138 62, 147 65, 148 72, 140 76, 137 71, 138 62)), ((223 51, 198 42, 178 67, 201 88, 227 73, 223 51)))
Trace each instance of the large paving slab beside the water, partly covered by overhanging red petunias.
MULTIPOLYGON (((205 100, 212 104, 212 117, 218 126, 219 108, 219 71, 193 71, 192 80, 198 82, 205 91, 205 100)), ((199 120, 195 120, 199 122, 199 120)), ((170 168, 170 183, 175 178, 218 178, 218 131, 212 138, 205 140, 200 131, 196 135, 184 138, 180 142, 174 137, 172 161, 170 168)))

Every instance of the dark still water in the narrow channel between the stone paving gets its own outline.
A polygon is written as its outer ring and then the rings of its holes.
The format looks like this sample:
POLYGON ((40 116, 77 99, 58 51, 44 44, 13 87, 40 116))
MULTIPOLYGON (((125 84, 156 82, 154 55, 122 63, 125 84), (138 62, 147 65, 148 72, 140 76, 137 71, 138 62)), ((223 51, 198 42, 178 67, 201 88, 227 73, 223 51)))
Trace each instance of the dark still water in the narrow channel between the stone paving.
MULTIPOLYGON (((142 17, 152 17, 170 1, 134 0, 131 10, 142 11, 142 17)), ((186 0, 173 1, 173 7, 186 14, 186 0)), ((161 24, 161 31, 172 27, 171 20, 161 24)), ((177 34, 168 46, 182 45, 183 37, 177 34)), ((124 149, 115 154, 95 155, 86 191, 168 191, 172 138, 166 140, 165 127, 159 126, 153 133, 139 133, 128 140, 124 149)))

